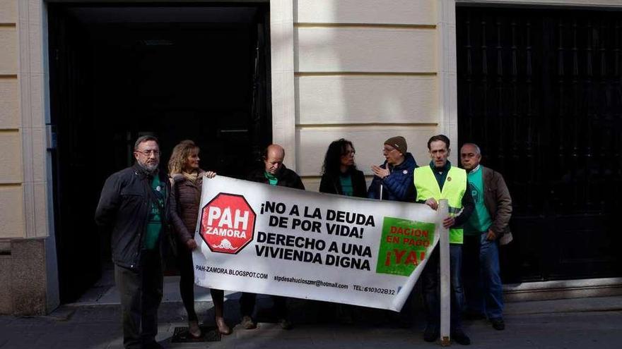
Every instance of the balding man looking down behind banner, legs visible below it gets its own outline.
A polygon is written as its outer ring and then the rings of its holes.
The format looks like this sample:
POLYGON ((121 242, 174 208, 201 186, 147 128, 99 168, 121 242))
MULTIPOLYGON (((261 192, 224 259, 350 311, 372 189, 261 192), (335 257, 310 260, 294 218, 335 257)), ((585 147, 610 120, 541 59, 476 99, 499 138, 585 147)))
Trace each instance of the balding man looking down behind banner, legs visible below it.
MULTIPOLYGON (((262 156, 264 166, 251 171, 247 179, 252 182, 305 190, 305 185, 300 180, 300 176, 294 171, 287 169, 283 165, 283 159, 285 159, 285 149, 280 145, 269 145, 264 150, 264 155, 262 156)), ((255 293, 248 292, 242 292, 240 296, 241 324, 245 329, 257 327, 257 324, 252 319, 256 298, 257 295, 255 293)), ((287 298, 273 295, 272 300, 278 324, 283 329, 291 329, 292 324, 287 319, 287 298)))

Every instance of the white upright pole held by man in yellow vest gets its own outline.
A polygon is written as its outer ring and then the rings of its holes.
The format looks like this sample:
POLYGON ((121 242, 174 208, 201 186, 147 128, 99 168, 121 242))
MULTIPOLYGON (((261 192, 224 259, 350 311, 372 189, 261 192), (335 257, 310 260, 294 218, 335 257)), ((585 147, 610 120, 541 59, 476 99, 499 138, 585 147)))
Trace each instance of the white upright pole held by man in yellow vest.
POLYGON ((438 247, 440 252, 440 345, 450 345, 450 234, 449 229, 442 226, 442 220, 449 216, 449 204, 446 199, 438 202, 438 247))

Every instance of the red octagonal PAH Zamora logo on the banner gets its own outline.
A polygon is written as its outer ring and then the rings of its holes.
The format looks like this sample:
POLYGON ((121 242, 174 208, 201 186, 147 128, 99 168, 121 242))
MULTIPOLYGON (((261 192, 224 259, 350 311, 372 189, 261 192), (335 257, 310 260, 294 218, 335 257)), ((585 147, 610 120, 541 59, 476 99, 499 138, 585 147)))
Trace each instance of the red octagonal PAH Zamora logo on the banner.
POLYGON ((252 241, 255 218, 242 195, 221 192, 201 209, 199 233, 212 252, 235 254, 252 241))

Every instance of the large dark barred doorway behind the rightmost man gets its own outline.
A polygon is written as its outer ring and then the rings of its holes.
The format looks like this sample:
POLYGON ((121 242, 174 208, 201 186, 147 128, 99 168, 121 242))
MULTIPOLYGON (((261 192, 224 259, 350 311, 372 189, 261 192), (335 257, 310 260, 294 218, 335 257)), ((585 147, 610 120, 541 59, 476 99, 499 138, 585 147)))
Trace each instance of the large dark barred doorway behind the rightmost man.
POLYGON ((622 276, 622 12, 457 8, 459 142, 514 201, 505 282, 622 276))

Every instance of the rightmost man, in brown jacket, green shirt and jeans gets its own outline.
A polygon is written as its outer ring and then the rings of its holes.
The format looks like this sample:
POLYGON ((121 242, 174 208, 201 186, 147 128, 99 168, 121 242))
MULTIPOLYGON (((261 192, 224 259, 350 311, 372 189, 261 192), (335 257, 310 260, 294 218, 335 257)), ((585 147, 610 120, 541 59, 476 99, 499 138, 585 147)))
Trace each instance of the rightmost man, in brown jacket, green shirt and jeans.
POLYGON ((500 173, 481 166, 477 145, 466 143, 460 150, 475 202, 474 213, 464 224, 464 292, 467 315, 488 317, 493 328, 505 329, 503 283, 499 268, 499 244, 512 240, 509 229, 512 197, 500 173))

